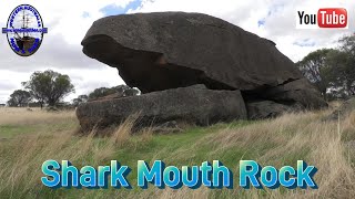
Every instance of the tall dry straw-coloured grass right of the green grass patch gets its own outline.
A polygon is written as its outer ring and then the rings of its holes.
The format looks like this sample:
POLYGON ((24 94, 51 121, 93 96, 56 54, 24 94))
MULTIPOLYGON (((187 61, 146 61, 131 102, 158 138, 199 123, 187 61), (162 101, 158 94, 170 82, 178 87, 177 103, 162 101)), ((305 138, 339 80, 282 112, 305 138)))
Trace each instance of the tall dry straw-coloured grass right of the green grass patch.
MULTIPOLYGON (((318 189, 315 190, 242 190, 236 187, 232 191, 224 190, 227 198, 355 198, 355 112, 339 122, 324 119, 328 114, 328 111, 287 114, 239 129, 221 129, 202 138, 195 147, 209 143, 213 148, 206 153, 209 157, 237 146, 262 151, 255 160, 263 166, 295 166, 296 160, 302 159, 318 169, 315 175, 318 189)), ((199 198, 187 189, 182 192, 182 198, 199 198)), ((215 192, 205 189, 204 195, 219 198, 215 192)), ((165 198, 165 193, 159 197, 165 198)))

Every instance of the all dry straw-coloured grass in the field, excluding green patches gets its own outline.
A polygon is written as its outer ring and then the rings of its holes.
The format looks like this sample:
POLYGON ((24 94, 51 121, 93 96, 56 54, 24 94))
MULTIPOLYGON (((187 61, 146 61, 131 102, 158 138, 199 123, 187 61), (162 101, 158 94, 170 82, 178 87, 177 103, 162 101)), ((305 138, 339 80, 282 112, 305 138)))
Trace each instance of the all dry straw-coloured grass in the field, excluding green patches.
MULTIPOLYGON (((11 113, 0 116, 1 124, 54 124, 75 119, 73 113, 11 113), (18 119, 17 119, 18 118, 18 119)), ((224 153, 239 150, 252 154, 261 165, 295 166, 303 159, 318 168, 315 181, 318 189, 234 189, 216 190, 201 187, 196 190, 150 188, 148 190, 121 191, 82 190, 73 198, 355 198, 355 113, 345 119, 324 121, 329 111, 286 114, 275 119, 258 122, 244 127, 227 127, 199 137, 193 145, 181 147, 164 157, 184 159, 195 157, 199 148, 209 146, 204 159, 224 153)), ((75 130, 58 130, 51 134, 38 133, 1 142, 0 140, 0 196, 6 198, 51 198, 69 197, 71 190, 52 190, 41 185, 41 165, 48 159, 69 159, 77 167, 84 165, 108 165, 120 148, 132 148, 153 139, 150 129, 132 137, 134 118, 130 118, 106 137, 95 137, 95 130, 87 136, 75 135, 75 130)), ((162 149, 163 150, 163 149, 162 149)), ((159 151, 156 151, 159 153, 159 151)), ((129 156, 129 155, 128 155, 129 156)), ((154 157, 161 157, 156 154, 154 157)), ((242 157, 241 159, 245 159, 242 157)), ((235 168, 239 159, 235 159, 235 168)), ((185 163, 187 164, 187 163, 185 163)), ((236 171, 235 171, 236 172, 236 171)), ((134 186, 134 185, 133 185, 134 186)), ((1 197, 0 197, 1 198, 1 197)))

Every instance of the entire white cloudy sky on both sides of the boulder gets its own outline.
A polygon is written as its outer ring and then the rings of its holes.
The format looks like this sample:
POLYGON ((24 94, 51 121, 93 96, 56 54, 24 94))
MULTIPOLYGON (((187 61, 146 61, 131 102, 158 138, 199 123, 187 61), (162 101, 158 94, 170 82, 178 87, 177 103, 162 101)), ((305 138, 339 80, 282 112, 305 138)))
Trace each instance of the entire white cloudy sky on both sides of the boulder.
MULTIPOLYGON (((42 46, 30 57, 20 57, 8 45, 6 35, 0 35, 0 103, 13 88, 29 78, 38 70, 52 69, 69 74, 73 80, 75 95, 88 93, 100 86, 123 83, 116 70, 87 57, 80 42, 93 21, 102 18, 100 10, 109 4, 124 8, 133 0, 100 1, 31 1, 43 18, 49 33, 42 46), (85 13, 85 14, 84 14, 85 13), (6 84, 3 83, 6 82, 6 84), (10 86, 9 86, 10 85, 10 86)), ((6 27, 10 12, 29 1, 1 1, 0 25, 6 27)), ((321 48, 336 46, 336 41, 355 30, 355 1, 353 0, 143 0, 142 7, 129 12, 186 11, 203 12, 222 18, 246 31, 273 40, 277 49, 293 61, 298 61, 308 52, 321 48), (297 9, 344 7, 349 12, 348 30, 296 30, 297 9), (258 21, 263 20, 263 25, 258 21), (295 43, 312 40, 314 45, 301 46, 295 43)), ((71 95, 69 98, 75 96, 71 95)))

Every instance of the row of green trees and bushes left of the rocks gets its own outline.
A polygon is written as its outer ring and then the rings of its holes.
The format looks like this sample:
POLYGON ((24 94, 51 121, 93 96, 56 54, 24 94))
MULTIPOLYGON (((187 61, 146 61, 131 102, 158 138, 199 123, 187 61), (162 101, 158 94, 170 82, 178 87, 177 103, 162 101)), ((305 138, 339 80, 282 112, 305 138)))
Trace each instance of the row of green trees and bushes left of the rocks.
POLYGON ((116 94, 119 97, 133 96, 140 94, 136 88, 128 85, 119 85, 113 87, 100 87, 92 91, 89 95, 79 95, 71 103, 63 102, 64 97, 74 93, 74 85, 71 78, 65 74, 60 74, 52 70, 44 72, 34 72, 30 80, 22 82, 23 90, 16 90, 11 95, 7 105, 10 107, 26 106, 72 106, 77 107, 88 101, 95 101, 101 97, 116 94))

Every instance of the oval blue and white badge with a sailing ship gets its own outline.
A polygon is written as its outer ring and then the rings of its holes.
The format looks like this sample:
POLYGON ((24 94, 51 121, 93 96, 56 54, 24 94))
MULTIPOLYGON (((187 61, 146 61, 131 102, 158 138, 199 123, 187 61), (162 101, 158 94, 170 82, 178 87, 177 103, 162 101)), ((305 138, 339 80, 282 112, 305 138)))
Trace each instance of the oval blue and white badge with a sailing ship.
POLYGON ((44 28, 40 13, 30 4, 21 4, 13 9, 7 28, 2 28, 10 48, 20 56, 34 54, 47 32, 48 29, 44 28))

